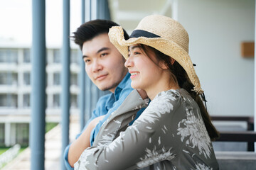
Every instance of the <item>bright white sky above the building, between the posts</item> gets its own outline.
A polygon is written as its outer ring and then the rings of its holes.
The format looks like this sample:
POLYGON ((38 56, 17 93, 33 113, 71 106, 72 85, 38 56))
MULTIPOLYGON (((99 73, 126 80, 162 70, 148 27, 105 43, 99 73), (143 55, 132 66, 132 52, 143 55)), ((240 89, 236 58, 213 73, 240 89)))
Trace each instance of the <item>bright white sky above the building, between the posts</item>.
MULTIPOLYGON (((80 0, 70 1, 70 33, 81 24, 80 0)), ((63 34, 63 0, 46 0, 46 44, 59 46, 63 34)), ((0 41, 31 44, 32 0, 0 0, 0 41)))

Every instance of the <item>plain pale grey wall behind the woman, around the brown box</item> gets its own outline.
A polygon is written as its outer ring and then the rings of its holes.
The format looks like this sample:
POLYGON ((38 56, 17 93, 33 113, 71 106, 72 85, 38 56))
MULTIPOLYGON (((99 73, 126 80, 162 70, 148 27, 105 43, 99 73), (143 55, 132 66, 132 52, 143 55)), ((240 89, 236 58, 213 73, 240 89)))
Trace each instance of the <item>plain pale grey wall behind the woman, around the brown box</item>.
MULTIPOLYGON (((240 43, 255 38, 255 0, 178 0, 176 17, 190 37, 189 54, 210 115, 253 115, 254 59, 240 43)), ((175 10, 174 10, 175 11, 175 10)))

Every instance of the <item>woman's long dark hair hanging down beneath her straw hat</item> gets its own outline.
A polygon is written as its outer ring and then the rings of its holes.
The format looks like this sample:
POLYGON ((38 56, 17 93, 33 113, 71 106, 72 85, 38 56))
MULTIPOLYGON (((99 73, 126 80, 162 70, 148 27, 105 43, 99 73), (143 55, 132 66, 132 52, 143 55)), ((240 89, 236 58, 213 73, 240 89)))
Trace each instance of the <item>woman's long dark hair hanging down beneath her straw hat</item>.
POLYGON ((196 94, 195 91, 193 91, 194 86, 191 83, 190 79, 188 79, 188 74, 186 74, 186 71, 183 69, 183 67, 181 67, 181 65, 178 64, 178 62, 174 62, 174 64, 171 64, 170 56, 164 55, 164 53, 154 49, 153 47, 149 47, 147 45, 142 44, 140 44, 139 47, 141 47, 146 54, 148 54, 147 52, 151 50, 156 55, 157 60, 164 61, 166 63, 166 66, 169 68, 169 71, 171 72, 170 78, 176 81, 176 83, 178 83, 178 86, 180 86, 182 89, 188 91, 191 97, 198 104, 203 118, 203 122, 206 125, 206 130, 210 136, 210 140, 216 140, 220 135, 210 120, 210 115, 206 110, 206 107, 203 105, 202 98, 198 94, 196 94))

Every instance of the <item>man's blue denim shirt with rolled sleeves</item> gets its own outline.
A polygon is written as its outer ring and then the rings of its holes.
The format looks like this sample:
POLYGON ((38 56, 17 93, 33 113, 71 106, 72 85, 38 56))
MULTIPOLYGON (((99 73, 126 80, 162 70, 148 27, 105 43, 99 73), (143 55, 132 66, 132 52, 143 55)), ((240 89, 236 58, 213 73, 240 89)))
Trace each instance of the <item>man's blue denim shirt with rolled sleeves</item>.
MULTIPOLYGON (((92 112, 92 117, 90 118, 90 120, 87 121, 85 128, 83 128, 82 132, 87 128, 87 126, 89 125, 89 123, 99 117, 100 115, 106 115, 105 118, 103 118, 102 120, 100 120, 100 122, 95 126, 95 128, 92 130, 91 135, 90 135, 90 144, 92 146, 95 137, 97 136, 97 133, 100 130, 100 127, 102 126, 102 124, 105 122, 105 120, 107 120, 107 118, 109 118, 110 114, 117 110, 117 108, 119 108, 119 106, 122 104, 122 102, 124 101, 124 99, 129 95, 129 93, 133 90, 131 87, 131 79, 129 79, 129 77, 131 76, 131 74, 127 73, 127 75, 124 77, 124 79, 122 79, 122 81, 119 83, 119 85, 117 86, 117 88, 114 90, 114 94, 107 94, 105 96, 102 96, 96 104, 96 108, 95 110, 92 112)), ((144 108, 142 108, 136 115, 136 118, 134 120, 136 120, 139 115, 141 115, 141 113, 144 111, 144 108)), ((132 122, 133 123, 133 122, 132 122)), ((78 134, 76 136, 76 139, 82 134, 82 132, 80 132, 80 134, 78 134)), ((68 163, 68 150, 70 148, 70 145, 68 145, 68 147, 65 148, 65 152, 64 152, 64 160, 65 160, 65 166, 68 170, 73 169, 70 164, 68 163)))

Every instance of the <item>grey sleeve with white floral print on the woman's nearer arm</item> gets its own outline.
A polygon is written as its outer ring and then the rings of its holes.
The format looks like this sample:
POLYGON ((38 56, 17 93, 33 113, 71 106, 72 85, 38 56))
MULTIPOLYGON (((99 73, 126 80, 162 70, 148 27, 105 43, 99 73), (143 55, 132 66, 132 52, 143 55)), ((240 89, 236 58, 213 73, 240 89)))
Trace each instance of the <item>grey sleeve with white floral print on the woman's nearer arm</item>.
POLYGON ((165 154, 164 159, 174 158, 174 153, 163 147, 159 134, 166 128, 165 117, 177 107, 174 98, 151 101, 134 124, 113 142, 85 149, 75 169, 137 169, 162 161, 161 153, 165 154))

